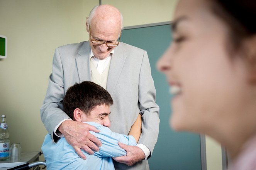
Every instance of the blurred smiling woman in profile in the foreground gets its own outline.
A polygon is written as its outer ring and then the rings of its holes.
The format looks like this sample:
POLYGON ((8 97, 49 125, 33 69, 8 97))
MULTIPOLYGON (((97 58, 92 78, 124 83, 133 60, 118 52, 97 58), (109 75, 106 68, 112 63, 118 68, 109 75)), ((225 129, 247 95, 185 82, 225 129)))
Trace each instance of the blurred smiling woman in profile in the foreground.
POLYGON ((171 127, 215 138, 237 170, 256 170, 255 18, 255 0, 180 0, 158 61, 174 96, 171 127))

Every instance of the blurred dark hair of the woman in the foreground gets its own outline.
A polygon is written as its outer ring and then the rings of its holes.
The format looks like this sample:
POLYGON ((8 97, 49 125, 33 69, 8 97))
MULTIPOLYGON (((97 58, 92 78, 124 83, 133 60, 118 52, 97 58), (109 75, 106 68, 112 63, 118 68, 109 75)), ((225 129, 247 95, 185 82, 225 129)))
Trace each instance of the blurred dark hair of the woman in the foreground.
MULTIPOLYGON (((232 50, 241 46, 242 40, 256 33, 255 0, 211 0, 215 15, 224 20, 231 30, 232 50)), ((229 42, 230 43, 230 42, 229 42)))

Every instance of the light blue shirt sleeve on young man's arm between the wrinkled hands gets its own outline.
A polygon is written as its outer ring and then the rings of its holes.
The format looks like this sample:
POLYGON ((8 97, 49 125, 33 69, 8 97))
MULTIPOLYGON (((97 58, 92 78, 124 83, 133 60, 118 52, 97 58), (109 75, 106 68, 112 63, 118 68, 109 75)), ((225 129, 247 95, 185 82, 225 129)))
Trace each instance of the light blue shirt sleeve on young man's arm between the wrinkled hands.
POLYGON ((136 140, 133 136, 112 132, 108 127, 101 126, 99 133, 92 131, 90 133, 102 142, 102 146, 99 147, 100 150, 94 152, 97 157, 120 157, 126 155, 126 151, 119 147, 118 142, 125 145, 136 145, 136 140))

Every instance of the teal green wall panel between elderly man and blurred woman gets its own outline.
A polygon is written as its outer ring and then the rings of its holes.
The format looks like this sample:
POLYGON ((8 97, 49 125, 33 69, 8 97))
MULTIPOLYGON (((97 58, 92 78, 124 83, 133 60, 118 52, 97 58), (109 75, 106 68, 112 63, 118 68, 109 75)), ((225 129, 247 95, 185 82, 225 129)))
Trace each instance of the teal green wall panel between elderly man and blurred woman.
POLYGON ((152 77, 156 87, 156 103, 160 107, 158 142, 149 159, 151 170, 201 170, 200 136, 192 133, 174 132, 169 126, 171 113, 169 86, 162 73, 156 70, 156 62, 171 42, 171 26, 126 29, 121 42, 147 51, 152 77))

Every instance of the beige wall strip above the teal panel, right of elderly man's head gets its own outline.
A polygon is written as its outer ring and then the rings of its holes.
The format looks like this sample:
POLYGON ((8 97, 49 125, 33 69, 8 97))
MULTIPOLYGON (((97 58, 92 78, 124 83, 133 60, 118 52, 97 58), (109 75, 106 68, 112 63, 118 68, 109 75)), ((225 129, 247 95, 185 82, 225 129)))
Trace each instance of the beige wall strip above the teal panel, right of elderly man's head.
POLYGON ((117 7, 124 17, 124 27, 167 22, 173 19, 177 0, 102 0, 117 7))

